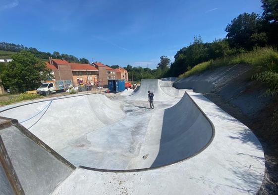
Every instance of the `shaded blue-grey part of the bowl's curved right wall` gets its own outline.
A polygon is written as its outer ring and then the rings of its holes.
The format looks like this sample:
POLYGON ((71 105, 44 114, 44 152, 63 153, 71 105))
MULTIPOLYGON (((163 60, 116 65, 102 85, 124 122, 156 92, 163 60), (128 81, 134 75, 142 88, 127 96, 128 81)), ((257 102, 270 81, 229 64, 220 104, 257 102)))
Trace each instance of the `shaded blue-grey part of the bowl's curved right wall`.
POLYGON ((165 109, 159 153, 151 167, 171 164, 200 152, 212 139, 213 125, 187 93, 165 109))

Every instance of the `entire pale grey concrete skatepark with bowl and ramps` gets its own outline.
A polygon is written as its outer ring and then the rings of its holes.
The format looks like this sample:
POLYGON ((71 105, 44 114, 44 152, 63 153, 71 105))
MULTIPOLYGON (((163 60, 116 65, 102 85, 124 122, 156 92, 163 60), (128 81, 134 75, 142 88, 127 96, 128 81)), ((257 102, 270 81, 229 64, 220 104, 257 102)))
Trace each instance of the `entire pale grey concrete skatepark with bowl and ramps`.
POLYGON ((0 108, 0 195, 255 195, 265 170, 256 136, 172 81, 0 108))

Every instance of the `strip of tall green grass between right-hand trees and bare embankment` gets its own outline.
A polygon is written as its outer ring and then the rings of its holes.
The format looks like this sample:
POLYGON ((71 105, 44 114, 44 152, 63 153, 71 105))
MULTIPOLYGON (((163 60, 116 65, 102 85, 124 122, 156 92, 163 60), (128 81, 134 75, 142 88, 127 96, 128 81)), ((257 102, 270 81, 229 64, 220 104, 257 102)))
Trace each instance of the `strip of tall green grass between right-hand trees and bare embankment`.
POLYGON ((247 64, 261 68, 261 71, 278 72, 278 53, 272 48, 260 48, 237 56, 229 56, 195 65, 179 75, 179 79, 224 65, 247 64))

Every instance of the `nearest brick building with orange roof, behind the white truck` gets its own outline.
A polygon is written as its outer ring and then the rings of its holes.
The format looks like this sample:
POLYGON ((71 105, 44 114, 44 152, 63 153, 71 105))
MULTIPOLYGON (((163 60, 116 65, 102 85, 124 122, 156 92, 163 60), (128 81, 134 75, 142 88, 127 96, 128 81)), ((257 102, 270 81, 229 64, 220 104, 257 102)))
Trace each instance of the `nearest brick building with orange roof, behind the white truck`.
POLYGON ((78 83, 96 83, 98 82, 99 70, 89 64, 69 63, 66 60, 49 58, 45 62, 47 67, 52 69, 56 80, 72 80, 74 87, 78 83))

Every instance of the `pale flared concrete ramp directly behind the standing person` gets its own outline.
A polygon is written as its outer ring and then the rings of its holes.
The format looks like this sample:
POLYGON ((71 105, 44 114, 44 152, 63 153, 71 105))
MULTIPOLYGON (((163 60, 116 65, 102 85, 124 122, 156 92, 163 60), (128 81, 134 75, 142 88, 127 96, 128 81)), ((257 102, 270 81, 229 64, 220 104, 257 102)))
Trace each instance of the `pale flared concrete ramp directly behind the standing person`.
POLYGON ((147 101, 148 91, 154 93, 154 101, 171 100, 173 97, 167 95, 160 86, 159 79, 141 79, 141 85, 137 92, 128 98, 136 101, 147 101))

